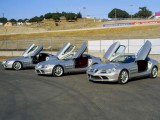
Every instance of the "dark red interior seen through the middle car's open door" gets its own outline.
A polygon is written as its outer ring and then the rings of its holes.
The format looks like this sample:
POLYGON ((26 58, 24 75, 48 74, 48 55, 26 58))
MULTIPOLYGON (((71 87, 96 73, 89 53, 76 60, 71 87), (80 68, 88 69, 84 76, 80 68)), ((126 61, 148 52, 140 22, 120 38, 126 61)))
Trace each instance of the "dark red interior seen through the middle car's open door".
POLYGON ((88 57, 81 56, 75 59, 75 68, 84 68, 88 66, 88 57))

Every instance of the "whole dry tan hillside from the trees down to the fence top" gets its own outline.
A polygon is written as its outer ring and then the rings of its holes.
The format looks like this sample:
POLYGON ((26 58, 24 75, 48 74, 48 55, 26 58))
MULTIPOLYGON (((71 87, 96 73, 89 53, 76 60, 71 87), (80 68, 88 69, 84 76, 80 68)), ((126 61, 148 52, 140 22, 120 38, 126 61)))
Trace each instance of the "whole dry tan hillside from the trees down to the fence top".
POLYGON ((0 40, 46 37, 83 37, 83 39, 134 39, 160 37, 160 24, 119 28, 98 28, 102 27, 103 24, 113 24, 120 22, 122 23, 130 21, 95 22, 94 20, 81 19, 77 22, 61 21, 59 26, 55 26, 53 20, 47 20, 43 21, 43 23, 34 23, 31 26, 0 27, 0 40), (84 30, 84 28, 97 29, 84 30))

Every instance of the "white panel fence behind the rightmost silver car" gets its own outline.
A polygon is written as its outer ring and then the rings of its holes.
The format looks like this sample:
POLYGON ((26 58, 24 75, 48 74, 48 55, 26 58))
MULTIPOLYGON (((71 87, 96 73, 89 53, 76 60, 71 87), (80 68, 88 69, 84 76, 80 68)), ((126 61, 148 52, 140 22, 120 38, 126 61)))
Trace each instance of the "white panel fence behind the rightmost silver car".
POLYGON ((93 41, 88 41, 88 50, 105 52, 113 42, 119 41, 122 45, 126 46, 125 53, 137 53, 146 40, 149 40, 152 43, 152 50, 150 54, 160 54, 160 38, 126 39, 126 40, 93 40, 93 41))

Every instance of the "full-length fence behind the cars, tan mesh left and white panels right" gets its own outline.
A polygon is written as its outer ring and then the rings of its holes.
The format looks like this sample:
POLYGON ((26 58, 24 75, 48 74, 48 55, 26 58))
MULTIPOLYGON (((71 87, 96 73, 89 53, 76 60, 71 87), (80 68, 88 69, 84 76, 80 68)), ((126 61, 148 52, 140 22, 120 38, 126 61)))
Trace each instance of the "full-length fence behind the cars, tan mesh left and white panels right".
POLYGON ((151 41, 151 54, 160 54, 160 38, 157 39, 124 39, 124 40, 96 40, 83 37, 48 37, 27 38, 17 40, 0 40, 0 51, 23 51, 31 44, 43 44, 46 51, 57 51, 64 44, 70 42, 78 49, 82 42, 88 44, 88 51, 105 52, 116 41, 126 46, 126 53, 137 53, 146 40, 151 41))

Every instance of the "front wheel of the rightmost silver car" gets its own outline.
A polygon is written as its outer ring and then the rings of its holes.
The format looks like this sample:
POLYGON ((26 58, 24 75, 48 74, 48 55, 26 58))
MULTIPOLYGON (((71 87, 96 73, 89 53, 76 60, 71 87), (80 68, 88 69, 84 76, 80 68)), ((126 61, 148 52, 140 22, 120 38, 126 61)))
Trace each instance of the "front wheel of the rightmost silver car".
POLYGON ((126 84, 129 79, 129 74, 127 70, 122 70, 119 74, 118 83, 126 84))

